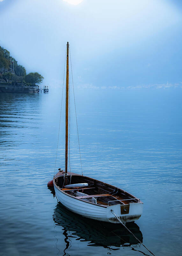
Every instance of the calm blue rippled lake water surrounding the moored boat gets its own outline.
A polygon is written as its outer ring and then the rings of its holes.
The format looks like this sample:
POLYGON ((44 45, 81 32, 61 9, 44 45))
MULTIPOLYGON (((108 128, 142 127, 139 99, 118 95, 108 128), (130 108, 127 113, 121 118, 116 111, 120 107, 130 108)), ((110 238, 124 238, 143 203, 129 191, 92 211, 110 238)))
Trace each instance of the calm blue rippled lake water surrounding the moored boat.
MULTIPOLYGON (((0 95, 1 255, 150 255, 121 225, 77 216, 47 188, 64 169, 60 107, 61 89, 0 95)), ((76 107, 84 175, 141 198, 127 227, 156 256, 181 255, 182 89, 80 89, 76 107)), ((71 103, 70 163, 81 173, 76 136, 71 103)))

